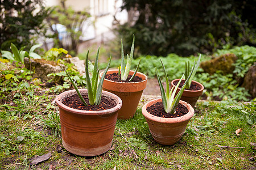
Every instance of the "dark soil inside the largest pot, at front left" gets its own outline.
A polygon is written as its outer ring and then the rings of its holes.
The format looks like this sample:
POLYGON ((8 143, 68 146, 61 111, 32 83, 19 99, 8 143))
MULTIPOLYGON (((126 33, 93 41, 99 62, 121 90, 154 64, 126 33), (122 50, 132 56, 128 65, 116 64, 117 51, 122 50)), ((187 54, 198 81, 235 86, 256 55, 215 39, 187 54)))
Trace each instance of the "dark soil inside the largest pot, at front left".
POLYGON ((62 103, 64 105, 67 105, 67 107, 73 108, 73 109, 79 109, 83 111, 102 111, 106 109, 110 109, 115 107, 117 104, 115 104, 114 100, 110 100, 109 98, 102 96, 101 97, 101 103, 100 105, 89 105, 89 99, 88 95, 82 94, 82 97, 88 104, 88 106, 85 106, 84 103, 79 98, 79 95, 75 94, 69 97, 66 97, 62 103))

